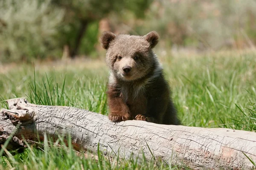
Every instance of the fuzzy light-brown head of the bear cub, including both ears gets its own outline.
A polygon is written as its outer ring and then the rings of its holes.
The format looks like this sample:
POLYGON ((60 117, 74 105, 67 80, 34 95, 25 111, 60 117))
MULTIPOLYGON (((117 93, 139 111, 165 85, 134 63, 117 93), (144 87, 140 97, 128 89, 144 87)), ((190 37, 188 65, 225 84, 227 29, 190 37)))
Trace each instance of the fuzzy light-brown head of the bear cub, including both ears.
POLYGON ((106 62, 113 74, 123 81, 144 77, 155 62, 152 48, 157 45, 158 34, 152 31, 145 36, 104 32, 102 47, 107 49, 106 62))

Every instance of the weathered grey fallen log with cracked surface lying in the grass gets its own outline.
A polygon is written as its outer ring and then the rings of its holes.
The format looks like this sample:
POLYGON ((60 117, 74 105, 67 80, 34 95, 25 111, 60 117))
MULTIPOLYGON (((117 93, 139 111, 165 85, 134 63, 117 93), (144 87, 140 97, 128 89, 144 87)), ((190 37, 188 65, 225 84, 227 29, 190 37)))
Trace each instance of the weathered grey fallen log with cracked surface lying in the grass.
MULTIPOLYGON (((54 139, 56 134, 69 134, 77 149, 147 160, 162 159, 193 169, 253 169, 244 155, 256 161, 256 133, 225 128, 201 128, 159 125, 144 121, 113 123, 107 116, 63 106, 34 105, 24 98, 9 99, 9 109, 0 115, 0 144, 19 125, 8 149, 26 147, 25 139, 35 140, 37 133, 54 139), (149 150, 149 148, 151 150, 149 150)), ((254 167, 255 168, 255 167, 254 167)))

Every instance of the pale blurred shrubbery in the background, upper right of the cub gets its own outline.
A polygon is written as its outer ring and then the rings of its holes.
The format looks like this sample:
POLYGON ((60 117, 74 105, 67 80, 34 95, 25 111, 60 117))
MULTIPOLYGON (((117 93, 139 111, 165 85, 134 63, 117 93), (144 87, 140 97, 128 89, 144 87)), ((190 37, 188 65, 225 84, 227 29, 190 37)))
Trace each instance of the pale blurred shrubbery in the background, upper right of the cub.
POLYGON ((147 11, 139 34, 152 29, 170 45, 198 49, 253 47, 256 43, 254 0, 163 0, 147 11))

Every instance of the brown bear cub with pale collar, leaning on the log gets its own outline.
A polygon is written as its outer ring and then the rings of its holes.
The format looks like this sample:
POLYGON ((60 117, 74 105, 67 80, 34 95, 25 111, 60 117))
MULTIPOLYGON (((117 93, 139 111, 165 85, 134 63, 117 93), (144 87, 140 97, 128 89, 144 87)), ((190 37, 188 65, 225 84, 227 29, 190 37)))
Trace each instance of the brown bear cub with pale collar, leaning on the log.
POLYGON ((162 65, 152 51, 158 38, 155 31, 145 36, 103 32, 101 44, 107 50, 110 68, 107 95, 111 121, 180 124, 162 65))

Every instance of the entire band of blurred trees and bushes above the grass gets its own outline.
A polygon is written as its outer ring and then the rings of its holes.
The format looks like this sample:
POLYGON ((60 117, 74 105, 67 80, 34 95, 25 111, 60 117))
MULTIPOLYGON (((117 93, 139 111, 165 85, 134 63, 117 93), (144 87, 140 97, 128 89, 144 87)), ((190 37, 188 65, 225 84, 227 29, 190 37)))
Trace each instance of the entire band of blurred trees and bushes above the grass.
POLYGON ((255 0, 2 0, 0 62, 60 58, 64 46, 99 56, 102 19, 116 33, 155 30, 174 50, 255 48, 255 11, 255 0))

